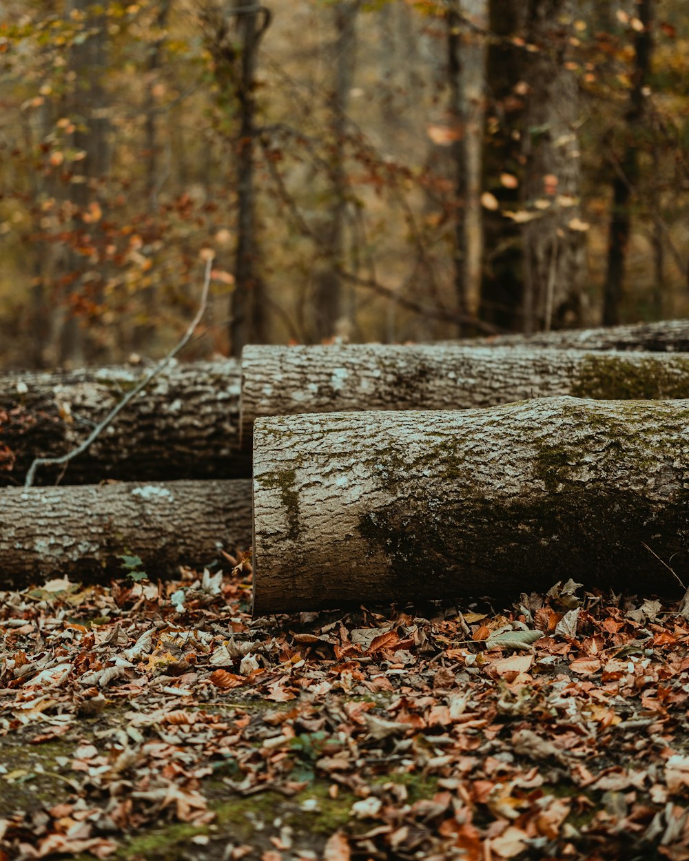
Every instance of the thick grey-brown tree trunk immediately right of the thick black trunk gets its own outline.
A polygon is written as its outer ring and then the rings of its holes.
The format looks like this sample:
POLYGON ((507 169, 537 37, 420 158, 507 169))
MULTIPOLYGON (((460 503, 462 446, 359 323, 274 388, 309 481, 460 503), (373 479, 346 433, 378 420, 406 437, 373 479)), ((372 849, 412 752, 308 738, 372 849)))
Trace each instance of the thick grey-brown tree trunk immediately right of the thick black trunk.
POLYGON ((525 331, 581 322, 586 273, 580 230, 579 84, 568 71, 574 0, 530 0, 525 39, 525 331), (567 23, 569 22, 569 23, 567 23), (543 208, 540 208, 543 206, 543 208))

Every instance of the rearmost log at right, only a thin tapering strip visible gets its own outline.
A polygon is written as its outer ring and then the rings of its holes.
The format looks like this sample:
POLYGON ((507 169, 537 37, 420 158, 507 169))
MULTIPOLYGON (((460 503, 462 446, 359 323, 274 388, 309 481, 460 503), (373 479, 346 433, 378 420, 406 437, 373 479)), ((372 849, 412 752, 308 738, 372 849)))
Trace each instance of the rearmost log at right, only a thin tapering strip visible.
POLYGON ((556 350, 646 350, 651 353, 689 352, 689 319, 661 320, 657 323, 601 326, 599 329, 568 329, 537 332, 534 335, 492 335, 466 339, 455 344, 490 346, 526 345, 556 350))

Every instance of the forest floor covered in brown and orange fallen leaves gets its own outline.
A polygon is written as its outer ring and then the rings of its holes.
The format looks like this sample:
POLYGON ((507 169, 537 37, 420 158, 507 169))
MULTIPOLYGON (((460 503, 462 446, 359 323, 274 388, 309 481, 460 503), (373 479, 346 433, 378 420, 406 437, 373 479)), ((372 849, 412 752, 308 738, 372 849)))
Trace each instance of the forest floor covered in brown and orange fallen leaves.
POLYGON ((571 582, 251 619, 251 572, 0 592, 0 861, 689 859, 689 622, 571 582))

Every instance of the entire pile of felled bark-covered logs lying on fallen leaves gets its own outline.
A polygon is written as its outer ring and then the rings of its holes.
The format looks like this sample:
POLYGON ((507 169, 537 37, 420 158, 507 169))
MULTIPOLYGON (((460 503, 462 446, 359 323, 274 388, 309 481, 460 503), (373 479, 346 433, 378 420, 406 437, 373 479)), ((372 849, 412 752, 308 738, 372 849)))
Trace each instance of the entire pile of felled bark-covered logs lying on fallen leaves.
MULTIPOLYGON (((255 426, 258 612, 570 575, 657 587, 667 569, 642 540, 686 560, 686 335, 674 321, 490 346, 250 347, 241 375, 174 365, 88 453, 41 468, 65 486, 1 492, 0 579, 102 579, 125 554, 162 574, 247 548, 255 426), (137 483, 96 486, 112 479, 137 483)), ((0 377, 0 483, 73 449, 143 373, 0 377)))

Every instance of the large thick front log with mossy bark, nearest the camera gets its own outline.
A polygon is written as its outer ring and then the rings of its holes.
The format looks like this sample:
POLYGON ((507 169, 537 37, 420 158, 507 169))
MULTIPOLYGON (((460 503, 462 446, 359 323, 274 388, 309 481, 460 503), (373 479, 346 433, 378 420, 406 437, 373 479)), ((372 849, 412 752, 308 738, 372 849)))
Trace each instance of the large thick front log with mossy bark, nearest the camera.
POLYGON ((261 418, 255 614, 689 581, 689 400, 261 418))

